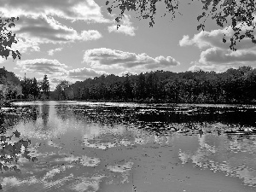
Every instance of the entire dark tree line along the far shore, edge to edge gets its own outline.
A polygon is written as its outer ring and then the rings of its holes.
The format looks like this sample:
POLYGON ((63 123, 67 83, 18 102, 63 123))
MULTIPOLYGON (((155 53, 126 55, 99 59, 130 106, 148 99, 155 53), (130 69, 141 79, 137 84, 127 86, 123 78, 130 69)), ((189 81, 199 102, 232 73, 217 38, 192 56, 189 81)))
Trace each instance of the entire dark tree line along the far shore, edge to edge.
MULTIPOLYGON (((109 102, 245 103, 256 102, 256 69, 230 68, 224 73, 155 71, 102 75, 49 90, 49 79, 18 79, 0 69, 0 95, 5 100, 83 100, 109 102), (2 84, 2 85, 1 85, 2 84), (3 89, 3 87, 5 87, 3 89)), ((2 99, 2 100, 3 100, 2 99)))

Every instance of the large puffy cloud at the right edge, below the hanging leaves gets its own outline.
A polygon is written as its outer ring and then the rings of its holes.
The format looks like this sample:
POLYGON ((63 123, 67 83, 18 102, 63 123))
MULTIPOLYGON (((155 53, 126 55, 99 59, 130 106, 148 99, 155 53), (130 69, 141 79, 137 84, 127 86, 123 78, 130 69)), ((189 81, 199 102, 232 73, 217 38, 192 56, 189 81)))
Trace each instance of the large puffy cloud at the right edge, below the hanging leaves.
MULTIPOLYGON (((245 28, 241 29, 245 32, 245 28)), ((201 31, 193 38, 188 35, 183 36, 179 41, 180 46, 195 46, 201 49, 200 59, 195 61, 195 65, 189 70, 216 70, 224 71, 229 67, 253 66, 256 61, 256 46, 250 38, 244 38, 236 43, 236 51, 230 50, 230 38, 234 32, 230 27, 212 30, 211 32, 201 31), (223 42, 223 38, 227 41, 223 42)))

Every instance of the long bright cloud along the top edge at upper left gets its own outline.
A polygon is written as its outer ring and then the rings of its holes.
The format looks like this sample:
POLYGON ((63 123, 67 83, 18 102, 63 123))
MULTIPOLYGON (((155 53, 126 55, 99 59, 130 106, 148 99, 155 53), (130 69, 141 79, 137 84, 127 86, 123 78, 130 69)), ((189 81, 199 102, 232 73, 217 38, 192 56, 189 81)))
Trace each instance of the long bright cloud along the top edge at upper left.
POLYGON ((72 21, 109 22, 93 0, 0 0, 0 3, 0 12, 7 17, 48 15, 72 21))

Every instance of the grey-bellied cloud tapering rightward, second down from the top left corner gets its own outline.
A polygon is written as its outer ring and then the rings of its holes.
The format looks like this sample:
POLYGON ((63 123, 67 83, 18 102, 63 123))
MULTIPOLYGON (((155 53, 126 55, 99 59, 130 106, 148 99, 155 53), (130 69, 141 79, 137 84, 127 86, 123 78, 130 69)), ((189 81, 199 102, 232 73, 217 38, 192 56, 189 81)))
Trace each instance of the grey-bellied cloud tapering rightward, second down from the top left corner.
POLYGON ((96 40, 102 38, 95 30, 77 32, 71 27, 62 25, 52 17, 45 15, 21 17, 14 32, 19 37, 29 39, 34 44, 67 43, 75 40, 96 40))

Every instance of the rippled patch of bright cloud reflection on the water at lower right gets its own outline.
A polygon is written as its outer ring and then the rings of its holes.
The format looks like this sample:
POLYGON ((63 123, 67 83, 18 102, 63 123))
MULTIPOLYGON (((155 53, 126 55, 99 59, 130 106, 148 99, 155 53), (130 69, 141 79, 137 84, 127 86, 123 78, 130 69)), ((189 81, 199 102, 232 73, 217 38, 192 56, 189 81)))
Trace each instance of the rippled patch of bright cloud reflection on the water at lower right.
POLYGON ((212 135, 198 137, 199 148, 195 152, 180 149, 179 159, 183 164, 191 160, 193 164, 201 168, 210 169, 213 172, 225 172, 226 175, 231 177, 240 177, 243 183, 248 186, 255 186, 256 170, 252 168, 256 166, 255 162, 253 163, 244 155, 237 154, 237 150, 241 150, 242 144, 246 145, 246 143, 237 143, 236 140, 223 143, 221 139, 218 138, 218 141, 215 138, 217 144, 221 144, 211 146, 208 144, 211 139, 212 135))

